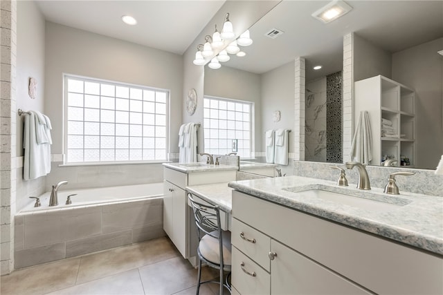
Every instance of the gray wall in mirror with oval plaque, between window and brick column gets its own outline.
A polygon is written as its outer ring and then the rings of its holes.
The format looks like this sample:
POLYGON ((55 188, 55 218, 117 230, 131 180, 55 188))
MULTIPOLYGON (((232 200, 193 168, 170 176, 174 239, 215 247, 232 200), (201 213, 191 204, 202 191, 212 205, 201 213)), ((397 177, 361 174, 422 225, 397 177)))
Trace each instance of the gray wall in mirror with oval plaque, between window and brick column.
MULTIPOLYGON (((295 71, 294 62, 291 61, 262 74, 262 133, 269 129, 293 129, 295 71), (280 111, 280 122, 273 122, 274 111, 280 111)), ((293 153, 294 149, 293 136, 294 132, 290 132, 289 153, 293 153)), ((262 152, 265 151, 265 146, 264 136, 262 136, 262 152)))

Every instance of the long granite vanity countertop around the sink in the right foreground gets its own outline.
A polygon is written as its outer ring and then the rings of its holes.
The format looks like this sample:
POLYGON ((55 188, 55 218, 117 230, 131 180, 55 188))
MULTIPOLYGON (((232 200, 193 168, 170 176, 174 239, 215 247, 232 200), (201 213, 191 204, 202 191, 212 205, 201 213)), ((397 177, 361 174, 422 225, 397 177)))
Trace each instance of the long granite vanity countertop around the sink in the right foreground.
POLYGON ((404 193, 401 187, 400 195, 388 195, 379 188, 363 191, 356 189, 355 184, 338 187, 335 182, 300 176, 242 180, 229 182, 228 186, 263 200, 443 255, 442 197, 404 193), (301 193, 311 189, 344 193, 398 206, 370 210, 301 193))

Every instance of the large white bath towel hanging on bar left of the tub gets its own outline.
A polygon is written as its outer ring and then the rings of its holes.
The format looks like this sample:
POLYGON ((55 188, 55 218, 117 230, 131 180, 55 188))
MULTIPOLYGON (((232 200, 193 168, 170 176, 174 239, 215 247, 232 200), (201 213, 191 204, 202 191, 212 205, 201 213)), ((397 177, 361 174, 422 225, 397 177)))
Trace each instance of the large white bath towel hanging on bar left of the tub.
MULTIPOLYGON (((23 133, 23 147, 25 150, 24 180, 39 178, 51 172, 51 144, 49 142, 41 144, 37 142, 37 129, 39 129, 39 125, 42 124, 40 124, 35 112, 30 111, 25 115, 23 133)), ((44 126, 48 125, 45 124, 44 126)))

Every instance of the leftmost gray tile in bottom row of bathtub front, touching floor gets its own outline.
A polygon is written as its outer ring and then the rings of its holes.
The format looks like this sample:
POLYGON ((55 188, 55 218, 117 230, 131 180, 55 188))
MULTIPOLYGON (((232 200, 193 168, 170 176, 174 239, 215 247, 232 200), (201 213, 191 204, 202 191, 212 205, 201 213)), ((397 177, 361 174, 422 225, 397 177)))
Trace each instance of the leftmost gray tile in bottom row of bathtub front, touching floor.
POLYGON ((15 251, 15 268, 28 267, 30 265, 38 265, 48 263, 54 260, 66 258, 65 244, 60 242, 53 245, 35 247, 15 251))

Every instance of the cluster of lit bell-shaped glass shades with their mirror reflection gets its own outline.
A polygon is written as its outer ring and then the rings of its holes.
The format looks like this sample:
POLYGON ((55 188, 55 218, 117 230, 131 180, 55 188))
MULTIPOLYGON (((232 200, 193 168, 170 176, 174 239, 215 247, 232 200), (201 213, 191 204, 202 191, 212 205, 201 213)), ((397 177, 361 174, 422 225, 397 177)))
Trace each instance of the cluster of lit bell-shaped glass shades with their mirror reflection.
POLYGON ((197 46, 197 53, 195 53, 193 63, 197 66, 204 66, 207 61, 210 61, 208 64, 210 68, 220 68, 220 62, 230 59, 228 54, 244 57, 246 53, 239 46, 249 46, 252 42, 249 30, 246 30, 240 37, 235 39, 233 24, 229 20, 229 13, 227 13, 221 32, 217 30, 217 25, 215 25, 213 35, 206 35, 205 43, 197 46))

